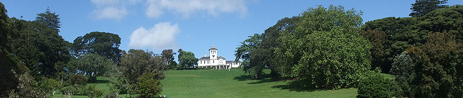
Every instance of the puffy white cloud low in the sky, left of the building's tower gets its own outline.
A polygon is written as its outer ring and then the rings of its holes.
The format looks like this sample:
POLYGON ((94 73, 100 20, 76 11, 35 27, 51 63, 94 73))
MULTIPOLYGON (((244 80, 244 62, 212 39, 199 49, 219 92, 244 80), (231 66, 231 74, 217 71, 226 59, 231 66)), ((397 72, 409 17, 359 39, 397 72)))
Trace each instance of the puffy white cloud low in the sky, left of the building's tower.
POLYGON ((129 47, 169 49, 175 47, 175 35, 180 33, 178 24, 161 22, 146 30, 143 27, 136 29, 130 36, 129 47))

